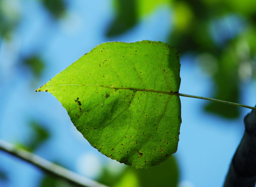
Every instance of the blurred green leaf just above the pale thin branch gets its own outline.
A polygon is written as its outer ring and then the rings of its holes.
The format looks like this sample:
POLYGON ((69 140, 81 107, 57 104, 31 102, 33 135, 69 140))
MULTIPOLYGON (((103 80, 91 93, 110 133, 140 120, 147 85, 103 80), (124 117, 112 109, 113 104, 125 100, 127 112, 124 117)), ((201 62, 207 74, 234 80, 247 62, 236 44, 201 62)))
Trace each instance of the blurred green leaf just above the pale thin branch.
POLYGON ((36 150, 36 148, 42 145, 42 143, 44 143, 45 140, 49 138, 49 133, 46 129, 42 127, 43 125, 40 124, 39 122, 31 121, 29 123, 29 126, 33 130, 33 135, 29 137, 30 139, 28 140, 27 143, 25 144, 18 143, 17 146, 29 152, 33 152, 36 150))

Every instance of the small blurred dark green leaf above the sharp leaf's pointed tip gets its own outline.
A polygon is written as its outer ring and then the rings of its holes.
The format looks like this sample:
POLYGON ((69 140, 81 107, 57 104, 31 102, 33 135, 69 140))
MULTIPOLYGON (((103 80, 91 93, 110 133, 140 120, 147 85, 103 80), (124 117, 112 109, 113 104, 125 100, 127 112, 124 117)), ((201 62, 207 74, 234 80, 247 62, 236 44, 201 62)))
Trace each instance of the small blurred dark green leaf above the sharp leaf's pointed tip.
POLYGON ((44 61, 38 55, 32 55, 23 60, 24 65, 31 69, 36 78, 40 77, 44 71, 44 61))

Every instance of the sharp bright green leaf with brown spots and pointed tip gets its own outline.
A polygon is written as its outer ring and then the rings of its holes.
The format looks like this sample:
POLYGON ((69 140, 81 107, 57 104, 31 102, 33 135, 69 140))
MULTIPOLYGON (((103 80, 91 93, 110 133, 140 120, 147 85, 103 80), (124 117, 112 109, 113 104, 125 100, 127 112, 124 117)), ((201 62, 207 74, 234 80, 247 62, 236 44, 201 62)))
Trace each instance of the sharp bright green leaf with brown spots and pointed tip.
POLYGON ((102 154, 147 168, 177 151, 179 56, 163 42, 103 43, 36 91, 52 93, 102 154))

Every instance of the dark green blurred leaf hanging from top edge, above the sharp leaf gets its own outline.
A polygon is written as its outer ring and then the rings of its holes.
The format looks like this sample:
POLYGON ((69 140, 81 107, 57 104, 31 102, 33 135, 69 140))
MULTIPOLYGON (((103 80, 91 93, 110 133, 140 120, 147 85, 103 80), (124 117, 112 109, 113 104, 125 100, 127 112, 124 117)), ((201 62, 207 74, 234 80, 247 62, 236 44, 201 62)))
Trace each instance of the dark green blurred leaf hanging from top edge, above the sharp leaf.
POLYGON ((135 0, 116 0, 114 3, 116 5, 116 18, 107 29, 108 37, 124 33, 138 21, 135 0))

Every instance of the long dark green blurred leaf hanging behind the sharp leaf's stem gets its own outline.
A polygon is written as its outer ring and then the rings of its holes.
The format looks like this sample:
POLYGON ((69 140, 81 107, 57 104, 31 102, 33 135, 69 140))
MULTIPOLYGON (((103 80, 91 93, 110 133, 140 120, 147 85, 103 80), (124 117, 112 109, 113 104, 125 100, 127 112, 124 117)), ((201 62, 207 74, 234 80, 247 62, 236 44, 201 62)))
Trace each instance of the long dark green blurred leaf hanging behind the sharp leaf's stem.
MULTIPOLYGON (((239 76, 238 58, 236 50, 229 48, 218 61, 218 71, 213 77, 215 81, 215 95, 213 98, 239 103, 239 76)), ((226 118, 236 118, 239 116, 239 108, 217 102, 209 102, 205 109, 226 118)))

